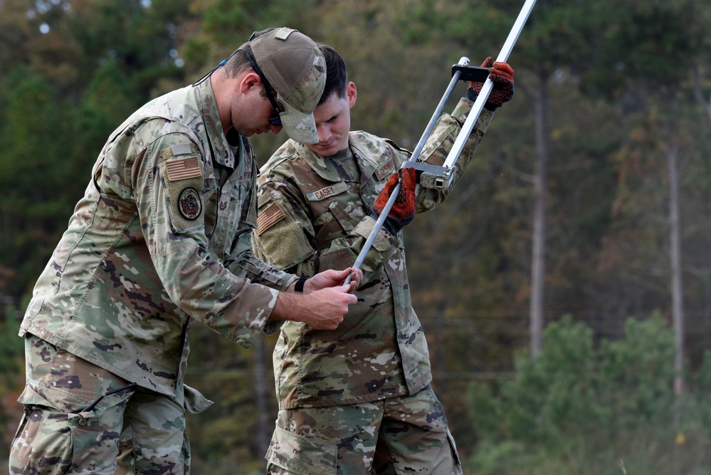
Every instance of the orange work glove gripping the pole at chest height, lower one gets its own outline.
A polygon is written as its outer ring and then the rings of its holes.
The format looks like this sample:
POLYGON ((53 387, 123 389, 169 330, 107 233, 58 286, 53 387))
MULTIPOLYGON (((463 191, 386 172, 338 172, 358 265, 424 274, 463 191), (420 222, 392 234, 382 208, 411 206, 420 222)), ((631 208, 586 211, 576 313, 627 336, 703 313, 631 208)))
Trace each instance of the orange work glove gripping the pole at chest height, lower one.
POLYGON ((390 234, 397 234, 400 229, 410 224, 415 217, 417 172, 414 168, 401 168, 390 177, 383 191, 375 199, 372 212, 376 216, 380 216, 398 180, 400 181, 400 192, 383 223, 383 226, 390 231, 390 234))

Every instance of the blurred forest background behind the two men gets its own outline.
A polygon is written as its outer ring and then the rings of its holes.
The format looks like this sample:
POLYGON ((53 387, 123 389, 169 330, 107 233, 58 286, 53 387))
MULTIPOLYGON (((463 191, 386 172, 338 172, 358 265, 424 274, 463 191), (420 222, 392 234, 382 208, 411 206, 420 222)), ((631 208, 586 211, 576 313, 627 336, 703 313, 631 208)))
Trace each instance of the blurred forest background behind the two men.
MULTIPOLYGON (((285 25, 347 61, 353 130, 412 149, 451 66, 496 57, 523 3, 0 0, 0 458, 24 306, 127 115, 285 25)), ((515 98, 406 229, 466 473, 711 474, 708 1, 539 0, 508 62, 515 98)), ((255 137, 260 162, 285 138, 255 137)), ((273 344, 196 326, 186 380, 216 404, 189 417, 194 474, 263 473, 273 344)))

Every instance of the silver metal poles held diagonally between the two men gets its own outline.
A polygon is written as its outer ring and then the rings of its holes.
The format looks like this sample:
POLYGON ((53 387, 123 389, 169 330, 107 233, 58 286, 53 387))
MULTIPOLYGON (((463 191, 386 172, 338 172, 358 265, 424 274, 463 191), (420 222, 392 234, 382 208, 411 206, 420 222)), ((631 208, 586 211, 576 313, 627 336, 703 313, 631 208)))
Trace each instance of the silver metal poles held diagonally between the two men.
MULTIPOLYGON (((520 14, 518 15, 518 18, 516 19, 514 26, 511 28, 511 31, 509 33, 509 36, 506 38, 506 41, 504 42, 504 46, 502 46, 501 51, 499 52, 499 56, 496 57, 496 61, 506 61, 511 54, 511 50, 513 49, 514 44, 516 43, 519 35, 521 34, 521 30, 523 29, 523 26, 526 24, 526 20, 528 19, 528 16, 531 14, 531 11, 533 9, 534 4, 536 4, 536 0, 526 0, 526 3, 524 4, 523 8, 521 9, 520 14)), ((460 64, 462 61, 466 60, 467 65, 469 63, 468 58, 461 58, 460 59, 460 64)), ((465 65, 466 66, 466 65, 465 65)), ((439 118, 439 116, 442 113, 442 110, 444 108, 445 103, 447 102, 449 96, 452 93, 452 90, 454 88, 455 83, 459 80, 460 73, 459 71, 455 72, 455 74, 452 77, 451 82, 449 83, 449 87, 446 90, 445 95, 443 96, 442 100, 440 100, 439 105, 437 106, 437 109, 435 113, 432 115, 432 118, 430 119, 429 124, 426 127, 425 133, 423 133, 422 137, 420 138, 420 141, 418 142, 417 146, 415 147, 414 152, 412 153, 410 159, 408 161, 412 160, 417 160, 418 155, 420 155, 420 152, 422 151, 422 148, 424 147, 424 144, 429 137, 430 133, 432 132, 432 129, 439 118)), ((470 111, 467 120, 464 121, 464 125, 462 126, 462 130, 460 130, 459 135, 457 135, 457 138, 454 142, 454 145, 452 146, 452 150, 450 150, 449 155, 447 156, 447 160, 444 162, 445 167, 451 168, 454 162, 456 162, 457 158, 459 157, 459 154, 462 152, 462 149, 464 148, 464 144, 466 140, 468 139, 471 130, 474 128, 474 125, 476 124, 476 121, 479 118, 479 115, 481 114, 481 110, 484 108, 484 104, 489 98, 489 95, 491 93, 492 88, 494 87, 493 80, 490 80, 487 78, 484 82, 483 87, 481 88, 481 92, 479 93, 477 99, 474 101, 474 105, 472 106, 472 110, 470 111)), ((451 174, 450 181, 453 179, 454 174, 451 174)), ((380 213, 380 216, 378 216, 378 219, 375 221, 375 226, 373 227, 373 230, 370 231, 370 235, 368 236, 368 239, 365 241, 365 244, 363 245, 363 248, 361 249, 360 253, 358 254, 358 257, 353 264, 353 267, 355 268, 360 268, 362 265, 363 261, 365 260, 366 254, 368 254, 368 251, 370 250, 370 247, 373 245, 373 242, 375 241, 375 237, 377 234, 380 232, 380 229, 383 226, 383 223, 385 222, 385 219, 388 216, 388 213, 390 212, 390 209, 393 207, 393 204, 395 203, 395 199, 397 198, 398 193, 400 192, 400 182, 397 182, 395 185, 392 194, 390 195, 390 198, 388 199, 388 202, 385 204, 385 207, 383 208, 383 211, 380 213)), ((346 283, 350 282, 350 276, 346 279, 346 283)))

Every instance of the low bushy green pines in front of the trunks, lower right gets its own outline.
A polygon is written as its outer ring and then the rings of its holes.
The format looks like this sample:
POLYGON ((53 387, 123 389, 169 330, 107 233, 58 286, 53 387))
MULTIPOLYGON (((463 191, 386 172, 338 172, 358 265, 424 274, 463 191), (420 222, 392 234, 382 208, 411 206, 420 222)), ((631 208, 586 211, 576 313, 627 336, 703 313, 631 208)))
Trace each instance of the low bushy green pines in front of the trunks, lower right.
MULTIPOLYGON (((515 379, 495 392, 473 385, 473 473, 614 474, 620 460, 628 473, 675 464, 691 473, 710 462, 699 455, 711 448, 710 403, 703 392, 675 400, 673 333, 660 314, 628 319, 624 338, 597 348, 591 329, 567 316, 548 325, 544 341, 538 357, 517 357, 515 379)), ((707 377, 700 371, 697 389, 707 377)))

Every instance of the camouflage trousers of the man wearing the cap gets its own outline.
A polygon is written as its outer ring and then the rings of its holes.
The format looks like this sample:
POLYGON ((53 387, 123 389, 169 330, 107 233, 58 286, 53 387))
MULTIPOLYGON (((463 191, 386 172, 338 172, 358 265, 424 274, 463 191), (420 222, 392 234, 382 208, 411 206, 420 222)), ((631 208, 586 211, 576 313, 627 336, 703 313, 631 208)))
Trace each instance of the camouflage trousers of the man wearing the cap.
POLYGON ((40 338, 29 335, 25 345, 11 475, 189 472, 182 404, 40 338))

